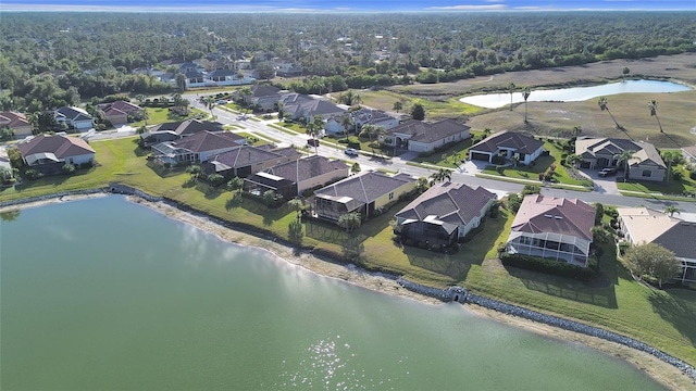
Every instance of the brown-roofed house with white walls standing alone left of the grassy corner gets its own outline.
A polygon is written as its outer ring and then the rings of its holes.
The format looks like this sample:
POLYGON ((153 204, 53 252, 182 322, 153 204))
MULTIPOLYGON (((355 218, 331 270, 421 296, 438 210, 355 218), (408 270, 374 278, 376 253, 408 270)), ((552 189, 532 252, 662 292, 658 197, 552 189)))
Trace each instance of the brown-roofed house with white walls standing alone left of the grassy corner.
POLYGON ((65 135, 29 137, 16 143, 27 167, 45 175, 62 173, 65 164, 92 164, 95 150, 79 137, 65 135))

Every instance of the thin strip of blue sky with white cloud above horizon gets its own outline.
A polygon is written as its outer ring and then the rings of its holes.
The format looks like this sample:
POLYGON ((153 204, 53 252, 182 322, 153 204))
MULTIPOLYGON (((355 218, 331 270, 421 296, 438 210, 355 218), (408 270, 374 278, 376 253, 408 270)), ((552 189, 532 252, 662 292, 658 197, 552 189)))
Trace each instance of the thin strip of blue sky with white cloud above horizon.
POLYGON ((0 10, 227 12, 474 12, 571 10, 693 10, 696 0, 0 0, 0 10))

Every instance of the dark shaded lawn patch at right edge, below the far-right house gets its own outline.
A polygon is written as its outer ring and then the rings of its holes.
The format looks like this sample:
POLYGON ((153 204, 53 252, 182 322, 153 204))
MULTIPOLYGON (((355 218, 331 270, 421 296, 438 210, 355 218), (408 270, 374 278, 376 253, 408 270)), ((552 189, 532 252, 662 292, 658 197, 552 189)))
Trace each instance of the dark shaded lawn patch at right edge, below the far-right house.
POLYGON ((696 344, 696 293, 681 289, 655 291, 648 298, 652 310, 696 344))

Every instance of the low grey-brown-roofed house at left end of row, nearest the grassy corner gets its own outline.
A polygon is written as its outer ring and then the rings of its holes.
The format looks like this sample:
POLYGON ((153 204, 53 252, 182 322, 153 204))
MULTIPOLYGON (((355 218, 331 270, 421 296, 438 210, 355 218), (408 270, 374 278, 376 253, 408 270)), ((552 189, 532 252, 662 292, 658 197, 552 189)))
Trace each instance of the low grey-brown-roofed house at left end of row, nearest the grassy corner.
POLYGON ((175 141, 152 146, 152 155, 161 163, 200 163, 247 143, 247 139, 229 131, 203 130, 175 141))

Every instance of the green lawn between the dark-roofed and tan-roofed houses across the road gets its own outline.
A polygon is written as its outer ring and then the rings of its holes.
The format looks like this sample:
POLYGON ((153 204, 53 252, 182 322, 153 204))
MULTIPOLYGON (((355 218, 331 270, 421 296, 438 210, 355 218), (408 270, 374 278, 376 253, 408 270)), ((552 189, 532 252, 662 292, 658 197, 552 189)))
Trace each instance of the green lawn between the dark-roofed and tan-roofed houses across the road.
POLYGON ((551 166, 551 164, 555 164, 556 171, 554 172, 554 178, 559 184, 576 185, 576 186, 589 185, 588 181, 575 179, 568 174, 568 171, 566 169, 566 167, 560 164, 561 155, 563 151, 558 146, 556 146, 550 141, 545 141, 544 149, 549 151, 549 155, 537 157, 535 161, 535 164, 531 167, 521 166, 521 165, 518 165, 518 167, 508 166, 508 167, 504 167, 501 169, 502 172, 499 173, 495 166, 488 166, 484 169, 484 173, 488 175, 496 175, 496 176, 508 177, 508 178, 529 179, 529 180, 538 181, 539 174, 546 173, 548 168, 551 166))

